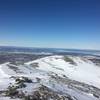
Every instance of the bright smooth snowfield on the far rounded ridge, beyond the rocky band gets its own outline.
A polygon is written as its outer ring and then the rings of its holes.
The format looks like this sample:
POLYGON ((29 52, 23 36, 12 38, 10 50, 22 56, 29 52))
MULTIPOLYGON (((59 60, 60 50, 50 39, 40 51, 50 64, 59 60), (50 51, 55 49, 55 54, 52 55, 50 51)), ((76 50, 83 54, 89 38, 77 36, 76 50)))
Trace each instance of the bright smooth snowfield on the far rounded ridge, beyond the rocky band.
POLYGON ((51 71, 59 75, 66 75, 73 80, 100 88, 99 66, 96 66, 86 58, 71 56, 69 58, 75 64, 70 64, 70 62, 65 61, 63 56, 49 56, 26 64, 38 63, 38 69, 51 71))

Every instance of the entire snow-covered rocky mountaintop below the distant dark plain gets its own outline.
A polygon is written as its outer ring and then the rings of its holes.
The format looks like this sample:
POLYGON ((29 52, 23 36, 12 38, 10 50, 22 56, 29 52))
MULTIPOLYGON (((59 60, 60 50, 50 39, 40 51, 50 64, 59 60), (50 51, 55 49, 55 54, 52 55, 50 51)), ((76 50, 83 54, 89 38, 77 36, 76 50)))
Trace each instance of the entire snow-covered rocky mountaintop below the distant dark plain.
POLYGON ((100 100, 100 67, 81 56, 8 62, 0 65, 0 94, 0 100, 100 100))

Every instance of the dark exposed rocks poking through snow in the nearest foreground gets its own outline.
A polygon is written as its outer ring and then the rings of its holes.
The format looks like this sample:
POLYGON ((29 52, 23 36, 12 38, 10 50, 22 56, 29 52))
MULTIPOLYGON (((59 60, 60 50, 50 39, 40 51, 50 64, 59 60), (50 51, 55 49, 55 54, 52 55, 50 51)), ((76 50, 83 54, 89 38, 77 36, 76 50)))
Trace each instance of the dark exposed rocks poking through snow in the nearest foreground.
POLYGON ((62 94, 59 91, 53 91, 47 86, 40 85, 35 91, 31 94, 26 95, 27 91, 23 92, 21 88, 25 88, 25 83, 31 83, 32 81, 26 77, 16 78, 16 83, 11 85, 4 91, 5 96, 11 98, 20 98, 25 100, 77 100, 75 97, 72 97, 68 94, 62 94))

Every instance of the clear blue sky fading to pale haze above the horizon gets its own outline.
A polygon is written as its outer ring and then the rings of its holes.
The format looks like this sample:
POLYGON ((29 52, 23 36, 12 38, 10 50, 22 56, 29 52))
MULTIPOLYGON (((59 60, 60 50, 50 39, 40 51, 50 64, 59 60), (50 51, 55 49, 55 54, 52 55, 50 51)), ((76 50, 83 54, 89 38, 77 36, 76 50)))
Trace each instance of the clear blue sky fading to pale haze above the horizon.
POLYGON ((0 45, 100 49, 100 0, 0 0, 0 45))

